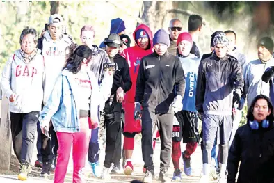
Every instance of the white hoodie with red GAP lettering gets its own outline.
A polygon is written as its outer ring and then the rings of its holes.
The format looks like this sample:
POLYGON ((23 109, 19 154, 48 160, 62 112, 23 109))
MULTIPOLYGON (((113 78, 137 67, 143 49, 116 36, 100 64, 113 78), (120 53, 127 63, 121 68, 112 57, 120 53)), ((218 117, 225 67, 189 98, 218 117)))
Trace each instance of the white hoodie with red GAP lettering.
POLYGON ((44 58, 38 53, 29 63, 25 63, 19 50, 10 56, 2 72, 1 88, 7 98, 15 95, 9 102, 10 112, 30 113, 41 111, 44 88, 44 58))

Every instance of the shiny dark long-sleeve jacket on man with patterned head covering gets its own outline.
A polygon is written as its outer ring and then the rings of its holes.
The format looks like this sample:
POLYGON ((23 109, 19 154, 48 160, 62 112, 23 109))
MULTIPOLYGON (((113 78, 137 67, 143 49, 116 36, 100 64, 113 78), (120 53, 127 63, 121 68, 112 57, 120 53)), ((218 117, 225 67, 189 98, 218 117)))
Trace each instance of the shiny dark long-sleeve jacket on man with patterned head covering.
POLYGON ((243 92, 243 74, 236 58, 213 54, 200 62, 196 109, 213 115, 231 115, 233 90, 243 92))

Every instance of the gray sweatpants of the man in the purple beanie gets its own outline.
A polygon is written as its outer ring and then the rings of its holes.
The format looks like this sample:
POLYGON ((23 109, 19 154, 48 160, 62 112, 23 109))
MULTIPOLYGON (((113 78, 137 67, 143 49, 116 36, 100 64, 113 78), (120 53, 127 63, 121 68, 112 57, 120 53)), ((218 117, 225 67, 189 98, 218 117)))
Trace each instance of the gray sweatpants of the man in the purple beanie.
POLYGON ((173 113, 142 112, 142 153, 147 170, 154 170, 152 137, 157 129, 161 138, 160 168, 169 168, 172 152, 173 116, 173 113))

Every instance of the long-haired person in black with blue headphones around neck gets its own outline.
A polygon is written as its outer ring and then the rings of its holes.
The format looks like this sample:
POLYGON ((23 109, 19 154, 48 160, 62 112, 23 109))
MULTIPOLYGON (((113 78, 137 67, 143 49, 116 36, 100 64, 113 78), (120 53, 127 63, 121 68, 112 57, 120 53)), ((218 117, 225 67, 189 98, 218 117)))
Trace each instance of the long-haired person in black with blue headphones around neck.
POLYGON ((273 106, 257 95, 248 109, 247 124, 237 129, 227 161, 227 183, 274 182, 273 106))

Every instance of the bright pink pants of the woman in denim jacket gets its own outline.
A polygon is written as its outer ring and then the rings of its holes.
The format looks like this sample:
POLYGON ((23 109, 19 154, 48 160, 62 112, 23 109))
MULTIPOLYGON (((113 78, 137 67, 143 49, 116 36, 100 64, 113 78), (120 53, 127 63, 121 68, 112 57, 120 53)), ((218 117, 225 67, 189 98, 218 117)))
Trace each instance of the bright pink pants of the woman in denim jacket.
POLYGON ((72 148, 73 180, 74 183, 82 183, 83 167, 86 163, 88 144, 90 142, 91 129, 90 118, 80 118, 81 130, 76 133, 57 132, 59 143, 58 158, 54 175, 54 183, 63 183, 67 173, 72 148))

